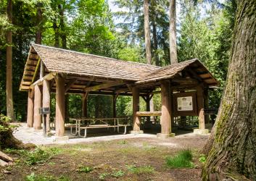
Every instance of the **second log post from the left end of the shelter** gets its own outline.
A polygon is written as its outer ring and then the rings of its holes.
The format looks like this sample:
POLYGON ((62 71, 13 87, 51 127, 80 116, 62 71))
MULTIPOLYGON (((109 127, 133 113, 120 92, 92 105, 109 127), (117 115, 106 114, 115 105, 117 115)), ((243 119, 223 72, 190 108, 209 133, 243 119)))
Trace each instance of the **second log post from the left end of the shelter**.
POLYGON ((34 124, 35 130, 41 130, 41 115, 39 114, 39 109, 41 108, 41 88, 39 85, 35 86, 34 93, 34 124))

